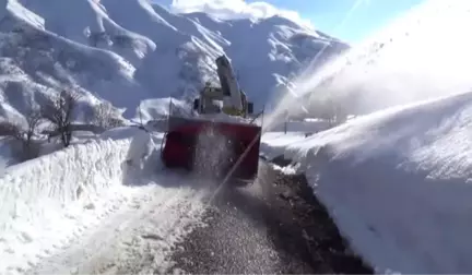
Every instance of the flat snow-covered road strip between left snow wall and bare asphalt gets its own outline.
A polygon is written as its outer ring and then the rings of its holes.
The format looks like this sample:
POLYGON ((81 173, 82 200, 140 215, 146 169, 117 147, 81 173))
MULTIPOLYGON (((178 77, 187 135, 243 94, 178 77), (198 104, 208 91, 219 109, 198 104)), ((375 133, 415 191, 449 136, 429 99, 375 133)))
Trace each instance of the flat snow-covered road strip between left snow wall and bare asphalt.
MULTIPOLYGON (((180 178, 157 178, 177 184, 180 178)), ((202 224, 203 191, 150 182, 126 188, 132 195, 120 210, 68 249, 34 267, 49 274, 172 274, 175 244, 202 224)))

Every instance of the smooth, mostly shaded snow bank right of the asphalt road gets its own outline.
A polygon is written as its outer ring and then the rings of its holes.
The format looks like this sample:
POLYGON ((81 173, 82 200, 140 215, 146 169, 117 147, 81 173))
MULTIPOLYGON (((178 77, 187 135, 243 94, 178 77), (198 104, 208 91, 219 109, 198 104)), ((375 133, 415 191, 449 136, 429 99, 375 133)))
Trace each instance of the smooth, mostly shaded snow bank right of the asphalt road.
POLYGON ((472 94, 463 94, 263 143, 300 164, 353 249, 380 274, 465 275, 471 129, 472 94))

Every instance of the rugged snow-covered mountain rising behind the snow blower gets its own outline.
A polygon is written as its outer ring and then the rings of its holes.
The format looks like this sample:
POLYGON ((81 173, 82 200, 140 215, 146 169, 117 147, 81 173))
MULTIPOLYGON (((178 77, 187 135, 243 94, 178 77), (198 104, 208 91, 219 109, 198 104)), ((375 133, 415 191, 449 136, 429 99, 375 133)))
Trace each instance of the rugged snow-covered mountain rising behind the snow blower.
POLYGON ((349 48, 282 16, 223 21, 148 0, 0 4, 0 117, 21 116, 31 101, 71 86, 84 93, 84 106, 105 99, 133 118, 145 100, 144 112, 155 113, 156 100, 146 99, 189 99, 217 81, 214 60, 223 53, 261 108, 322 48, 320 63, 349 48))

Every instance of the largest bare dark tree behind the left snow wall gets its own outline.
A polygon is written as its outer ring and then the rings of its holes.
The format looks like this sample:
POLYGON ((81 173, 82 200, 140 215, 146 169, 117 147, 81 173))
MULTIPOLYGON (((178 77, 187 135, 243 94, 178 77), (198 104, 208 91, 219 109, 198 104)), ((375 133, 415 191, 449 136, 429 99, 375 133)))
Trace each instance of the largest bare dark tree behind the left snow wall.
POLYGON ((80 94, 64 89, 48 104, 40 107, 40 116, 52 125, 52 134, 59 134, 64 147, 72 139, 72 115, 76 109, 80 94))

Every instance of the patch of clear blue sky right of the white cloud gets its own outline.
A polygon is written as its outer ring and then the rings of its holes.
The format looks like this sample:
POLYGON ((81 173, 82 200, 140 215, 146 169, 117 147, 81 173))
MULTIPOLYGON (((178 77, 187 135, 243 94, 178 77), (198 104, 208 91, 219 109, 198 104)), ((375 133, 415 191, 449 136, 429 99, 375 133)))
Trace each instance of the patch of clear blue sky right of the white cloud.
MULTIPOLYGON (((249 0, 248 2, 256 2, 249 0)), ((424 0, 368 0, 364 1, 346 20, 340 23, 355 0, 266 0, 278 8, 295 10, 303 17, 311 20, 315 27, 329 35, 356 43, 388 24, 402 12, 424 0)))

